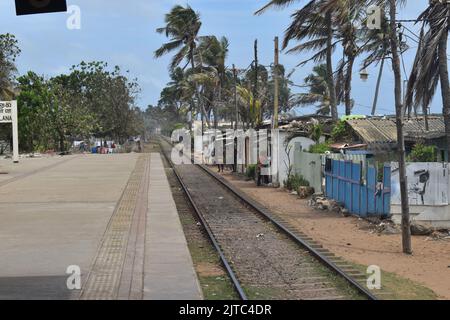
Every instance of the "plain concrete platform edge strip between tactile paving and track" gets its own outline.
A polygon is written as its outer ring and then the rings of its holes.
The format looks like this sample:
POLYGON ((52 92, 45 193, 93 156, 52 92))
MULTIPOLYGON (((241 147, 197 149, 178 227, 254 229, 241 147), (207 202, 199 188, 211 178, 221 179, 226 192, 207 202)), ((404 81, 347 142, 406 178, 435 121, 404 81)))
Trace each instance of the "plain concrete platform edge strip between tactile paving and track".
POLYGON ((148 192, 143 298, 202 299, 161 156, 157 153, 151 154, 148 192))

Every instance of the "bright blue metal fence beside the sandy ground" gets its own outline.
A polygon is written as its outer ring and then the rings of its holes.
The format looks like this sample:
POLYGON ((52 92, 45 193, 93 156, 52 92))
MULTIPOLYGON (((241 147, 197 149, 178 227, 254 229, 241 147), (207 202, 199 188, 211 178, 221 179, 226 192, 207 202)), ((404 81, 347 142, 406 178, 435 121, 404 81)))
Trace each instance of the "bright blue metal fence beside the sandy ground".
POLYGON ((325 195, 342 203, 349 212, 366 216, 388 216, 391 203, 391 167, 383 168, 383 182, 377 169, 368 166, 363 177, 362 163, 328 160, 325 166, 325 195), (365 179, 363 179, 365 178, 365 179))

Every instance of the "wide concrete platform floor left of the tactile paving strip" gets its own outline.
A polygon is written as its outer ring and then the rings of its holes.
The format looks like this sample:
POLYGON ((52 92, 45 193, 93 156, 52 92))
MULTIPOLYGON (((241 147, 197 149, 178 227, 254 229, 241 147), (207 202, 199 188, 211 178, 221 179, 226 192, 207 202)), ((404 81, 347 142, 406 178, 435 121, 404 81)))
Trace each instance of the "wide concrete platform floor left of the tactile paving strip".
POLYGON ((0 161, 11 172, 0 184, 0 299, 78 297, 66 269, 79 266, 84 280, 137 158, 0 161))

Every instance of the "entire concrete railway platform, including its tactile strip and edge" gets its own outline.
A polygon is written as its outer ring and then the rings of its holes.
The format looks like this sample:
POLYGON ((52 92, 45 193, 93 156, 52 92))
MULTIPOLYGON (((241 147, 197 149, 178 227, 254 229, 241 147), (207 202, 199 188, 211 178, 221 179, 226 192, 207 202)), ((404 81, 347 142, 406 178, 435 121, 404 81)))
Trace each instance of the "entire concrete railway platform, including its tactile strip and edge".
POLYGON ((0 160, 1 299, 202 299, 159 154, 0 160), (68 266, 82 290, 69 290, 68 266))

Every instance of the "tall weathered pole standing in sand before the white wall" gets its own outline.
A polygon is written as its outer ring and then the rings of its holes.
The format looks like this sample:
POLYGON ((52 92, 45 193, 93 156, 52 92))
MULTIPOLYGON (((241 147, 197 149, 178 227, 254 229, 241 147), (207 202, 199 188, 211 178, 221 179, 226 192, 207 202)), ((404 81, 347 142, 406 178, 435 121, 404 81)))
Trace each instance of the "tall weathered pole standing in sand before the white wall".
POLYGON ((397 120, 397 141, 398 141, 398 167, 400 178, 400 196, 402 203, 402 245, 403 252, 412 254, 411 249, 411 226, 409 218, 409 203, 406 178, 405 163, 405 140, 403 137, 403 104, 402 104, 402 78, 400 70, 400 57, 398 53, 396 1, 389 0, 390 4, 390 42, 392 51, 392 69, 395 78, 395 115, 397 120))

